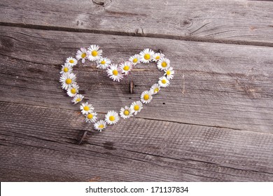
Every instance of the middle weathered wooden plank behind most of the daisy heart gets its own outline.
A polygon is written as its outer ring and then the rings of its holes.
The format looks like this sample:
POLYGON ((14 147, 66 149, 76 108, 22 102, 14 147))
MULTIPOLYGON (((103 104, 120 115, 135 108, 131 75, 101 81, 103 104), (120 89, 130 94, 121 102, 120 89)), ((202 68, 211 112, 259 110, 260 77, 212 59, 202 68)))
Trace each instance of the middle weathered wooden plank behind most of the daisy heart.
MULTIPOLYGON (((0 100, 69 109, 79 106, 59 84, 64 59, 77 48, 95 43, 113 62, 150 47, 161 49, 176 71, 170 87, 154 97, 136 118, 165 120, 210 127, 265 132, 273 130, 273 50, 158 38, 110 36, 63 31, 1 27, 0 100)), ((103 114, 139 100, 160 76, 155 66, 137 66, 121 83, 102 70, 75 68, 81 92, 103 114), (129 92, 133 79, 134 94, 129 92)), ((71 116, 71 119, 73 117, 71 116)))

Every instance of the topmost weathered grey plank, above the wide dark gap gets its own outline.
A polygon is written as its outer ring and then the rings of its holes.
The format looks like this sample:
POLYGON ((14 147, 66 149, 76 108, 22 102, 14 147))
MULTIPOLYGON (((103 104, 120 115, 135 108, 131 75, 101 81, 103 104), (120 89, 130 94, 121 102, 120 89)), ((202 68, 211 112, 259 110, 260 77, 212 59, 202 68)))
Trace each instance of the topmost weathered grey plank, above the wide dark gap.
POLYGON ((273 46, 270 1, 2 1, 1 25, 273 46))

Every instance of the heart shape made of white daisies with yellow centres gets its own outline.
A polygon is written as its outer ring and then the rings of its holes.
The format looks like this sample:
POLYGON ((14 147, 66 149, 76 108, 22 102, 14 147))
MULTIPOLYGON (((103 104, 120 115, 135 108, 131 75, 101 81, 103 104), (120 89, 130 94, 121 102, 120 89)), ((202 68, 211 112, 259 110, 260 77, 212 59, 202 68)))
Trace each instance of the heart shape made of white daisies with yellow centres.
POLYGON ((68 57, 64 65, 62 65, 61 77, 59 82, 62 83, 62 89, 66 90, 69 97, 72 97, 72 103, 78 104, 83 101, 83 95, 78 94, 79 86, 76 83, 76 75, 72 72, 73 66, 76 66, 81 59, 85 63, 85 59, 90 62, 97 62, 97 68, 105 69, 109 78, 113 81, 120 82, 126 77, 133 67, 139 63, 155 62, 160 71, 165 71, 164 76, 160 77, 158 83, 151 86, 150 90, 145 90, 141 93, 140 101, 133 102, 130 106, 125 106, 120 109, 120 112, 109 111, 105 115, 104 120, 97 120, 97 113, 94 111, 92 104, 85 102, 80 105, 80 111, 85 116, 85 123, 94 123, 94 130, 101 132, 108 125, 115 125, 120 120, 130 118, 137 115, 143 109, 144 104, 148 104, 153 99, 154 94, 158 94, 161 87, 167 87, 169 80, 174 77, 174 70, 170 66, 170 61, 161 52, 154 52, 146 48, 137 55, 133 55, 129 60, 121 64, 111 64, 111 60, 107 57, 102 57, 102 50, 99 50, 98 45, 90 45, 87 50, 80 48, 77 51, 76 57, 68 57))

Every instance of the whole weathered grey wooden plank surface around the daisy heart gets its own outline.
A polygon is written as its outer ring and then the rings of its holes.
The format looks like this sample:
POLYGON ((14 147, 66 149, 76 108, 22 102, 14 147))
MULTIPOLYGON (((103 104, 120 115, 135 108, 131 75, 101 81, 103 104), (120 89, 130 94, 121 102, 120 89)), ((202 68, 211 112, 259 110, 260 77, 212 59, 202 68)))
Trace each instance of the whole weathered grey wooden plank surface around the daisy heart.
MULTIPOLYGON (((272 13, 272 1, 1 1, 0 180, 273 181, 272 13), (59 84, 90 44, 117 63, 162 50, 175 77, 138 116, 94 132, 59 84)), ((100 118, 162 74, 132 72, 113 83, 75 68, 100 118)))

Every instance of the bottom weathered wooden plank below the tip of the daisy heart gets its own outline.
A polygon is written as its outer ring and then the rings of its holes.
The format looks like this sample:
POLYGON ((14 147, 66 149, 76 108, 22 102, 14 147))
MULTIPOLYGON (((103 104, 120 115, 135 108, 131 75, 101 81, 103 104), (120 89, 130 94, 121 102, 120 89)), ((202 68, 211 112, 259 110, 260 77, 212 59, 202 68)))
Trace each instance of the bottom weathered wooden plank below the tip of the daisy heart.
POLYGON ((1 181, 272 181, 273 135, 132 118, 102 133, 75 111, 0 102, 1 181))

